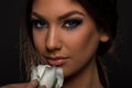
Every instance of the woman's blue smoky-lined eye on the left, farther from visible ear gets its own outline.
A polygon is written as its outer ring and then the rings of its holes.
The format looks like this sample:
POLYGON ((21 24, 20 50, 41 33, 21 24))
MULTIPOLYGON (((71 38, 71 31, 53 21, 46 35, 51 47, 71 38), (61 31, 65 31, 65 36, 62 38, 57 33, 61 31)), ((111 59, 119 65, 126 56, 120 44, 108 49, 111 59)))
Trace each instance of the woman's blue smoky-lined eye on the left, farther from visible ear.
POLYGON ((32 25, 35 29, 44 29, 47 28, 47 23, 43 20, 32 20, 32 25))

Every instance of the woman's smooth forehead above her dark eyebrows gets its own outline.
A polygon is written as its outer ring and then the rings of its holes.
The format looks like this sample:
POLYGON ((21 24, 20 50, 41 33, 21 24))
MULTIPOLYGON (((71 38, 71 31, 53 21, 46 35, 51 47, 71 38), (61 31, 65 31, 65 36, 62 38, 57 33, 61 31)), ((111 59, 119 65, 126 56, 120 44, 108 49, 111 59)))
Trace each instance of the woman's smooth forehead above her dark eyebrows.
POLYGON ((33 4, 32 12, 41 14, 64 14, 70 11, 87 13, 84 8, 72 0, 36 0, 33 4))

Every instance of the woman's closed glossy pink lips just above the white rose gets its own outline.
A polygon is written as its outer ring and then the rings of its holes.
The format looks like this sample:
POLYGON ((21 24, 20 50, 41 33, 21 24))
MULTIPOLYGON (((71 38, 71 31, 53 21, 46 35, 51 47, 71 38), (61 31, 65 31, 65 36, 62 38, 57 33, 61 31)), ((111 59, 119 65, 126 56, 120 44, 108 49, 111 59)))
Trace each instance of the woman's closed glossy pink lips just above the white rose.
POLYGON ((65 64, 69 57, 63 57, 63 56, 51 57, 51 56, 45 56, 45 58, 48 62, 48 64, 51 64, 53 66, 59 66, 59 65, 65 64))

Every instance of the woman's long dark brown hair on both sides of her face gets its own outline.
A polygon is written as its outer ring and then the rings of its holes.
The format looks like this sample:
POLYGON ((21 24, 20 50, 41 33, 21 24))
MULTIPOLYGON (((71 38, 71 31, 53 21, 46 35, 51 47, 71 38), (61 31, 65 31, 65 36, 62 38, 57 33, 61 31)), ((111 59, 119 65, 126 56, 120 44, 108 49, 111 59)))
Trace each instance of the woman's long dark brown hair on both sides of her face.
MULTIPOLYGON (((26 0, 26 11, 22 19, 22 28, 20 31, 20 47, 22 58, 25 59, 26 72, 30 74, 30 67, 32 64, 44 63, 38 53, 35 51, 32 41, 32 25, 30 22, 32 3, 34 0, 26 0), (36 58, 36 59, 35 59, 36 58)), ((117 35, 117 7, 111 0, 75 0, 79 2, 88 14, 94 19, 99 31, 109 35, 110 40, 107 43, 100 42, 97 54, 103 55, 111 47, 113 40, 117 35)), ((114 0, 116 1, 116 0, 114 0)))

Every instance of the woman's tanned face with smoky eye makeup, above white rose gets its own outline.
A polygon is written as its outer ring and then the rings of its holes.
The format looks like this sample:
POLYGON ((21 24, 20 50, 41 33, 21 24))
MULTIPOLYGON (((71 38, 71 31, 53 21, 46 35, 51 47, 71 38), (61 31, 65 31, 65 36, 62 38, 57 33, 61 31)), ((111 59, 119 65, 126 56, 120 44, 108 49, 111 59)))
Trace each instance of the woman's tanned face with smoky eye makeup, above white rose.
POLYGON ((105 35, 75 0, 35 0, 32 22, 36 51, 47 64, 62 67, 65 76, 94 64, 105 35))

